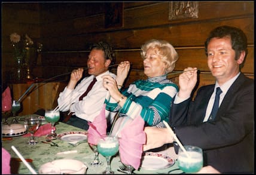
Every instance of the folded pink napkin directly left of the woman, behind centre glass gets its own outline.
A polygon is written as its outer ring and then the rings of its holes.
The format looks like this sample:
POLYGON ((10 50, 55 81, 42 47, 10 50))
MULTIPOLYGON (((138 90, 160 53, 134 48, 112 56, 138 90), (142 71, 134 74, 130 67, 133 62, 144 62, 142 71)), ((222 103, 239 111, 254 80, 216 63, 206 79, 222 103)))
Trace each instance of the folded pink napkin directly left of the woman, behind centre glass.
POLYGON ((96 116, 95 119, 93 120, 92 124, 95 128, 89 124, 87 140, 88 140, 88 143, 90 143, 92 145, 97 145, 97 142, 100 139, 100 135, 102 136, 102 135, 106 134, 105 108, 106 108, 106 104, 104 103, 103 108, 100 111, 100 114, 98 116, 96 116))

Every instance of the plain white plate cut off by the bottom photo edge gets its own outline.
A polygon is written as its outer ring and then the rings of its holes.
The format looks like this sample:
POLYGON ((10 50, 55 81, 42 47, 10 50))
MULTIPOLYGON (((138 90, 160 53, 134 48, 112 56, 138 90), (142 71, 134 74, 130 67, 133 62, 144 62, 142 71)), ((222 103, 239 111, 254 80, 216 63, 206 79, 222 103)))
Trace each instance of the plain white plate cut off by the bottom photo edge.
POLYGON ((86 173, 86 165, 75 159, 57 159, 47 162, 39 168, 39 174, 84 174, 86 173))

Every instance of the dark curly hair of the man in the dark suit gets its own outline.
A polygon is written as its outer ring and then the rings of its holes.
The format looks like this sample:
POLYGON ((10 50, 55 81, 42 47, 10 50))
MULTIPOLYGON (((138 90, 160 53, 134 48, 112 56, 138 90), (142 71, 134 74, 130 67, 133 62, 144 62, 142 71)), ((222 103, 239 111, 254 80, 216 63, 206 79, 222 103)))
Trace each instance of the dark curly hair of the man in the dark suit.
MULTIPOLYGON (((233 50, 235 51, 235 60, 239 59, 240 54, 242 51, 245 51, 245 58, 248 54, 247 50, 247 38, 245 33, 237 28, 237 27, 231 27, 231 26, 220 26, 215 28, 211 31, 209 37, 205 41, 205 54, 208 56, 208 44, 211 41, 212 38, 230 38, 231 45, 233 50)), ((239 65, 240 69, 245 64, 245 59, 243 60, 243 63, 239 65)))

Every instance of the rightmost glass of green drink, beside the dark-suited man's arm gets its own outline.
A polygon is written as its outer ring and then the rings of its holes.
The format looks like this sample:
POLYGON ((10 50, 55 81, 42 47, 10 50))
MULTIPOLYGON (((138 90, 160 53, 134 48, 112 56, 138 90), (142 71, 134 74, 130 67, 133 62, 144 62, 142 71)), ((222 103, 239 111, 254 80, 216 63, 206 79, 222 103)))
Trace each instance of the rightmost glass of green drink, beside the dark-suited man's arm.
POLYGON ((188 155, 179 148, 178 166, 185 173, 196 173, 203 167, 203 151, 197 146, 184 146, 188 155))

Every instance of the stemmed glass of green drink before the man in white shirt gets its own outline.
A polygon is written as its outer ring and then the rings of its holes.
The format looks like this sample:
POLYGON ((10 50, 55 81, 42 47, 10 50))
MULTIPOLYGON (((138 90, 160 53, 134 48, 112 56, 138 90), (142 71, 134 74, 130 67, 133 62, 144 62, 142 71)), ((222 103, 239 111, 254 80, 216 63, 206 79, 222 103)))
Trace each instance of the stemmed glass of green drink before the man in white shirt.
POLYGON ((54 124, 60 119, 60 111, 59 110, 45 110, 45 120, 51 123, 51 133, 47 135, 47 138, 50 140, 56 139, 57 134, 55 133, 54 124))

